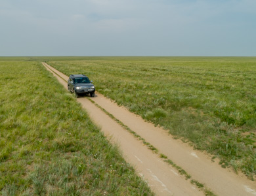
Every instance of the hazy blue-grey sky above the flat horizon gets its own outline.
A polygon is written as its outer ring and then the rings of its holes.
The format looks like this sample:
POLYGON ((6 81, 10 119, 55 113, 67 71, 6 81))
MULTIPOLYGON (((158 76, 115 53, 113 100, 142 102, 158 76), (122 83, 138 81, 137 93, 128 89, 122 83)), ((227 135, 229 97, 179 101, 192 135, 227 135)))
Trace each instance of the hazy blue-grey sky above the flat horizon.
POLYGON ((0 56, 256 56, 256 1, 0 0, 0 56))

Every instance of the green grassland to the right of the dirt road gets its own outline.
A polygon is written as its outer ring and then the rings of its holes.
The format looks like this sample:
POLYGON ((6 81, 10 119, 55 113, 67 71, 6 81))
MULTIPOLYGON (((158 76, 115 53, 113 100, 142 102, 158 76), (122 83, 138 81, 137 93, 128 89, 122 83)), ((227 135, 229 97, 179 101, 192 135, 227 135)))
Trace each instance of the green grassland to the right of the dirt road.
POLYGON ((54 57, 96 90, 253 179, 256 57, 54 57))

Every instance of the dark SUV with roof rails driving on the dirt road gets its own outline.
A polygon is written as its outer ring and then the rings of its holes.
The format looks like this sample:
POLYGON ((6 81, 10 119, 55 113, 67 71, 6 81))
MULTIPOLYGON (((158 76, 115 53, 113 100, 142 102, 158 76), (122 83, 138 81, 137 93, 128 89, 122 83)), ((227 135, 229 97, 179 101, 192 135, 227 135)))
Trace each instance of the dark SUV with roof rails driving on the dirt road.
POLYGON ((87 76, 84 74, 72 74, 68 78, 68 90, 75 93, 76 96, 80 94, 90 94, 91 97, 95 96, 95 86, 92 84, 87 76))

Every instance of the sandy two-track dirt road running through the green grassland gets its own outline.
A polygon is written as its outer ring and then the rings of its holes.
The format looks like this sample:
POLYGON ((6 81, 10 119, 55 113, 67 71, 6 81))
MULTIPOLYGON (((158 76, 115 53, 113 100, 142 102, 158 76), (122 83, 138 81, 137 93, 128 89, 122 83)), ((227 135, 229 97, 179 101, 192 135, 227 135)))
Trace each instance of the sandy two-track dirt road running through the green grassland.
MULTIPOLYGON (((68 76, 60 73, 53 67, 43 63, 58 81, 67 88, 68 76)), ((98 106, 91 103, 88 97, 79 97, 77 101, 87 110, 91 119, 101 127, 104 134, 117 143, 127 162, 144 176, 156 195, 203 195, 202 191, 185 180, 177 169, 163 162, 163 159, 136 139, 119 123, 102 112, 98 106)), ((192 179, 198 180, 211 189, 216 195, 256 195, 256 183, 243 174, 234 174, 228 169, 223 169, 218 163, 213 163, 208 155, 195 151, 180 140, 174 140, 167 131, 147 123, 124 107, 119 107, 103 95, 96 93, 91 98, 116 119, 135 131, 146 142, 150 142, 158 149, 160 154, 166 155, 174 163, 182 167, 192 179)))

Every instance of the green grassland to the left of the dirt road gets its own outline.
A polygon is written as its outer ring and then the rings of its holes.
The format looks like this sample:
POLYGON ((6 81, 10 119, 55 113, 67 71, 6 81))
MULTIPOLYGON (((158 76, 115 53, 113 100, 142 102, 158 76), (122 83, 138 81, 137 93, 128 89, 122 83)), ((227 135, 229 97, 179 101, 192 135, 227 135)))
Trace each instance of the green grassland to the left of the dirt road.
POLYGON ((0 58, 0 195, 153 195, 39 60, 0 58))

